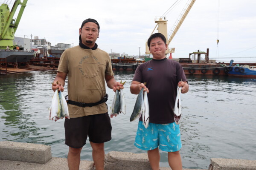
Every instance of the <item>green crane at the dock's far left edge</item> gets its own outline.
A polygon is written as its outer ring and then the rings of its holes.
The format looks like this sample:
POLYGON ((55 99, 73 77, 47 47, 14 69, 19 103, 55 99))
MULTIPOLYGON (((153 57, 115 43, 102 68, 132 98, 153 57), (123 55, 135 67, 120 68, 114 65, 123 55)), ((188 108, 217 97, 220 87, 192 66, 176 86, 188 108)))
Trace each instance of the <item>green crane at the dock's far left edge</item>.
POLYGON ((1 13, 0 49, 6 49, 7 46, 10 49, 13 49, 15 47, 15 45, 13 44, 14 34, 20 23, 20 19, 23 14, 24 8, 26 7, 27 1, 28 0, 23 0, 23 2, 21 2, 21 0, 15 0, 15 3, 12 6, 11 12, 7 4, 3 3, 0 6, 0 13, 1 13), (17 15, 17 19, 15 20, 13 17, 19 5, 21 5, 20 11, 17 15))

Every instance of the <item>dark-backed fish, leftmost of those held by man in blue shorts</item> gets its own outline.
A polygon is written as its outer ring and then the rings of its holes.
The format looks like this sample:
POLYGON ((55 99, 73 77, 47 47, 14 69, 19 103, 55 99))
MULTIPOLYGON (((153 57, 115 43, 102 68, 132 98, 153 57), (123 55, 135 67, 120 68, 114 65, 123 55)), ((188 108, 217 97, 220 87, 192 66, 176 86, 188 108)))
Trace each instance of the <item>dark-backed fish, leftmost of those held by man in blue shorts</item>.
POLYGON ((135 105, 134 105, 134 110, 131 113, 131 117, 130 117, 130 122, 134 121, 135 119, 137 119, 138 117, 141 116, 142 114, 142 109, 143 109, 143 90, 144 88, 141 88, 140 93, 137 96, 135 105))

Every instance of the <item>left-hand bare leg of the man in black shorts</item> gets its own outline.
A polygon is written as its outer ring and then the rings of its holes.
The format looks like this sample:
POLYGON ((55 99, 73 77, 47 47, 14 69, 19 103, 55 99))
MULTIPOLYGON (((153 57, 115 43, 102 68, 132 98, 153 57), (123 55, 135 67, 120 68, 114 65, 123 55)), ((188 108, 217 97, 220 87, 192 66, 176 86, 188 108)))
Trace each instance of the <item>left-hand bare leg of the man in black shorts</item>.
POLYGON ((69 170, 79 170, 81 150, 82 150, 82 147, 80 148, 69 147, 69 152, 67 154, 67 164, 68 164, 69 170))

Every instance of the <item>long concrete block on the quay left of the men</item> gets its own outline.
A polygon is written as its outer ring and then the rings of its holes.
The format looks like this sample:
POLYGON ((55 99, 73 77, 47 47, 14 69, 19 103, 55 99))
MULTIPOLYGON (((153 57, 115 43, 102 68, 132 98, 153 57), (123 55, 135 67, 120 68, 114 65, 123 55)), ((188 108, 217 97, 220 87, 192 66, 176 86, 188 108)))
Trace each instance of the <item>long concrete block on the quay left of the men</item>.
POLYGON ((51 147, 44 144, 0 142, 0 159, 45 164, 52 158, 51 147))

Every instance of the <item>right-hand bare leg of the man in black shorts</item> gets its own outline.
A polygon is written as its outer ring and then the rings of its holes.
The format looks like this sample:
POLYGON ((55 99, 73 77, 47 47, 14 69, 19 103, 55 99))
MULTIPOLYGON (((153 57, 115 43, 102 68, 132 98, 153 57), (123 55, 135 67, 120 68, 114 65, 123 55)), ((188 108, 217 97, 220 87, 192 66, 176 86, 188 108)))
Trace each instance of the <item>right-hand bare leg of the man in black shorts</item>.
POLYGON ((104 143, 93 143, 90 142, 93 148, 93 161, 96 170, 104 170, 105 151, 104 143))

